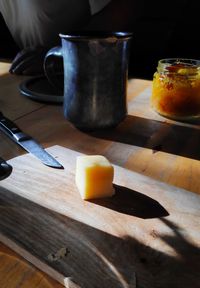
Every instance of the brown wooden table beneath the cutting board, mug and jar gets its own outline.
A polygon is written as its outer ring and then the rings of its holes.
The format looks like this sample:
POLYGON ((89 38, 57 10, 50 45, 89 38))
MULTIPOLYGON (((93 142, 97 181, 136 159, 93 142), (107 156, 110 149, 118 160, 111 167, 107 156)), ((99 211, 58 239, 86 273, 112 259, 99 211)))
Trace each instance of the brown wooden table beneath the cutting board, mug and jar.
MULTIPOLYGON (((26 77, 8 73, 0 63, 0 110, 45 148, 61 145, 87 154, 103 154, 116 165, 152 179, 200 194, 200 126, 168 120, 149 106, 151 81, 131 79, 128 117, 113 132, 86 134, 68 123, 61 105, 21 96, 26 77)), ((0 156, 24 154, 0 133, 0 156)), ((15 252, 0 244, 0 287, 62 287, 15 252)), ((178 286, 177 286, 178 287, 178 286)))

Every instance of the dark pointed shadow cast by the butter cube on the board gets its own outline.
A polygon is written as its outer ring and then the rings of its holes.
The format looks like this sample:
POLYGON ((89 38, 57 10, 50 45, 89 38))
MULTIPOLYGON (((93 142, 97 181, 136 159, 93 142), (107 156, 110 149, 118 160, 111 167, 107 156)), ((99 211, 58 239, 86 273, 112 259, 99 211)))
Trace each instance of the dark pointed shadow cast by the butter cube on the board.
POLYGON ((159 202, 149 196, 116 184, 114 184, 114 189, 115 194, 112 197, 92 199, 89 202, 142 219, 169 215, 159 202))

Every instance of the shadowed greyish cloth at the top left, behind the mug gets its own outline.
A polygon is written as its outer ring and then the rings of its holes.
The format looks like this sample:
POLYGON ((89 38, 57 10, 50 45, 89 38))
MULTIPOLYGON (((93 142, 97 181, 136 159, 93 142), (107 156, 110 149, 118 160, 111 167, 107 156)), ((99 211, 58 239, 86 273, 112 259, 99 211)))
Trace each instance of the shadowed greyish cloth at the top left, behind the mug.
POLYGON ((90 10, 95 14, 111 0, 0 0, 0 12, 16 43, 53 46, 58 34, 76 27, 90 10))

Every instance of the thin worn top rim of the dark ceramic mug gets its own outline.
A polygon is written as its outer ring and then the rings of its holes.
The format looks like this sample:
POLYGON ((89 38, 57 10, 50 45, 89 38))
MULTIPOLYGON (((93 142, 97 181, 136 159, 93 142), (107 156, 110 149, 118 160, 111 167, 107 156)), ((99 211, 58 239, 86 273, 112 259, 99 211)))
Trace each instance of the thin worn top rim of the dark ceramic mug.
POLYGON ((133 35, 129 31, 69 31, 60 33, 59 36, 63 39, 107 39, 115 37, 117 39, 129 39, 133 35))

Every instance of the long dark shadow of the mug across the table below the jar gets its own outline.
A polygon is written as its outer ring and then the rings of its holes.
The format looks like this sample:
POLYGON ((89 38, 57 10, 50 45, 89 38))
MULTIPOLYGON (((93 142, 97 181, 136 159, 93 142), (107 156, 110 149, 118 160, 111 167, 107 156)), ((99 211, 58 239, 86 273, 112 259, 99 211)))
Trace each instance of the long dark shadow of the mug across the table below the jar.
POLYGON ((113 129, 90 136, 200 160, 200 125, 190 127, 128 115, 113 129))

